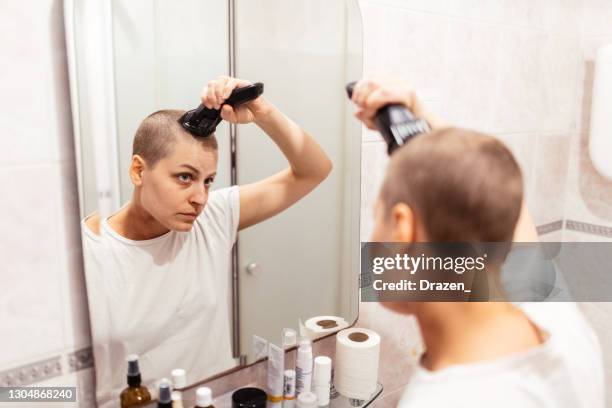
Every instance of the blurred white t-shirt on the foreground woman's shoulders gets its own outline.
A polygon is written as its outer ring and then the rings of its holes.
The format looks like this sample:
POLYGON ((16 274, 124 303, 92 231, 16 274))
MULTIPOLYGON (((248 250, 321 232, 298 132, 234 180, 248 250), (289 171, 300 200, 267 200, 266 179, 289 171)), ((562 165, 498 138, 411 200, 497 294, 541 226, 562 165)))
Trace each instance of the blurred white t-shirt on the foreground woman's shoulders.
POLYGON ((574 303, 519 307, 547 332, 525 352, 438 371, 417 368, 401 408, 603 408, 599 341, 574 303))

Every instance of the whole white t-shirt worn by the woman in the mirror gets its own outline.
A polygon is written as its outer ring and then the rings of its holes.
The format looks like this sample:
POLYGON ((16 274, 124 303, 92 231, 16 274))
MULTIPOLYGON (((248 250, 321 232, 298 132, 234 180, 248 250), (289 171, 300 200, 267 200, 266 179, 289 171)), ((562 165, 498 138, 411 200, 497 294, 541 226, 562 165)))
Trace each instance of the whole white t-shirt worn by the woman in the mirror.
POLYGON ((235 365, 230 259, 239 217, 233 186, 210 193, 188 232, 133 241, 106 220, 100 235, 82 222, 99 407, 119 406, 132 353, 152 395, 174 368, 192 383, 235 365))

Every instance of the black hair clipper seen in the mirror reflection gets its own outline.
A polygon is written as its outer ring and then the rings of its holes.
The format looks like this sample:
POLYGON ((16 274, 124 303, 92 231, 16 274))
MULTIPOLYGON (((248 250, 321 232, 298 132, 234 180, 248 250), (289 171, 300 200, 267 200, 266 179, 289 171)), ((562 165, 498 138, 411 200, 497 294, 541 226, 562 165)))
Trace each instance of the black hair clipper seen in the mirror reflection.
MULTIPOLYGON (((223 105, 229 105, 232 108, 237 108, 243 103, 250 102, 256 99, 263 93, 263 84, 256 82, 251 85, 246 85, 236 88, 230 96, 223 102, 223 105)), ((221 122, 221 109, 208 109, 201 104, 196 109, 185 112, 179 119, 179 123, 194 136, 208 137, 215 132, 217 125, 221 122)))

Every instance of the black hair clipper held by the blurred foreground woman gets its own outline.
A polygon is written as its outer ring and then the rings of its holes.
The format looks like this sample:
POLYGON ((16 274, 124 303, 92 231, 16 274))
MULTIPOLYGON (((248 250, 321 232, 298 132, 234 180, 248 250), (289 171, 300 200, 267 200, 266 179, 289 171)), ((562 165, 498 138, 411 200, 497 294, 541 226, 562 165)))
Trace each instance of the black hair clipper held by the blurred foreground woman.
MULTIPOLYGON (((356 82, 351 82, 346 85, 349 98, 353 97, 355 84, 356 82)), ((431 130, 425 120, 415 118, 404 105, 395 103, 380 108, 376 112, 374 123, 376 123, 378 131, 387 142, 387 153, 389 155, 414 136, 431 130)))

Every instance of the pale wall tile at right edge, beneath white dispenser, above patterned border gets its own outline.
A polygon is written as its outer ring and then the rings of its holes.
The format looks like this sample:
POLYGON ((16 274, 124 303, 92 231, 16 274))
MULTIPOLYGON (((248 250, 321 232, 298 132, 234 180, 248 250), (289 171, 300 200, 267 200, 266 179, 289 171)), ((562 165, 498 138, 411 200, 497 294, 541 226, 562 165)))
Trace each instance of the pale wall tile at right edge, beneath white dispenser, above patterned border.
POLYGON ((612 226, 612 180, 593 167, 584 133, 571 139, 565 217, 612 226))

